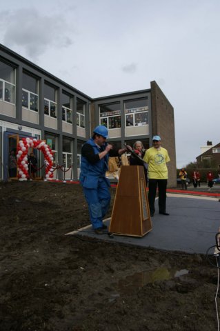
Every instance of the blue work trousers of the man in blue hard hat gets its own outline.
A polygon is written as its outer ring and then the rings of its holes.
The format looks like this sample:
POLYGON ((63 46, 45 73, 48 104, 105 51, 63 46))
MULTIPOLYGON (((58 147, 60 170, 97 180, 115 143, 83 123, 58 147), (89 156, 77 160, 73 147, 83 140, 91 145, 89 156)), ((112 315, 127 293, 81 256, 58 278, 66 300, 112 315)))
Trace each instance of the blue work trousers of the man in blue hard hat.
POLYGON ((108 212, 110 206, 109 185, 104 177, 99 177, 97 188, 83 188, 88 208, 90 221, 94 229, 101 228, 102 219, 108 212))

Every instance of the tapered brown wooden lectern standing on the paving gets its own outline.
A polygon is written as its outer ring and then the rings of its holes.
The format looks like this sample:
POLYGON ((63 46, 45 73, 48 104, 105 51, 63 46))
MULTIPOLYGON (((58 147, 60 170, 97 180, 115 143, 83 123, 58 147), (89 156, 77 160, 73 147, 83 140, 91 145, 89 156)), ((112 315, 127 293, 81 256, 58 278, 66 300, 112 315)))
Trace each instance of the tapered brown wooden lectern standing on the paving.
POLYGON ((152 230, 143 166, 122 166, 109 231, 143 237, 152 230))

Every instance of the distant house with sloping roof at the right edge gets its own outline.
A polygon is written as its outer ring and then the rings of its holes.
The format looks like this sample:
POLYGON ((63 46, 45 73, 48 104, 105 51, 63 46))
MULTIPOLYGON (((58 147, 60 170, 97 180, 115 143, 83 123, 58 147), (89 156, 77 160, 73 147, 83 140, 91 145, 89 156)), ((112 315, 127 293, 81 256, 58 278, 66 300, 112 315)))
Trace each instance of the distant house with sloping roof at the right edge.
POLYGON ((197 157, 198 168, 217 168, 220 170, 220 143, 212 146, 211 141, 207 141, 207 146, 201 148, 203 151, 197 157))

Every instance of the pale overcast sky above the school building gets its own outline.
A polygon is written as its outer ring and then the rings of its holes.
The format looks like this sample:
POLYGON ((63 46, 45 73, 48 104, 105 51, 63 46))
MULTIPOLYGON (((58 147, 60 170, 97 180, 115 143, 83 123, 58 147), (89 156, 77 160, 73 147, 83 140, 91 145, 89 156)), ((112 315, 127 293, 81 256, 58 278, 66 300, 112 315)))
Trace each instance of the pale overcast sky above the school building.
POLYGON ((177 167, 220 142, 219 0, 8 0, 0 17, 3 45, 90 97, 157 81, 177 167))

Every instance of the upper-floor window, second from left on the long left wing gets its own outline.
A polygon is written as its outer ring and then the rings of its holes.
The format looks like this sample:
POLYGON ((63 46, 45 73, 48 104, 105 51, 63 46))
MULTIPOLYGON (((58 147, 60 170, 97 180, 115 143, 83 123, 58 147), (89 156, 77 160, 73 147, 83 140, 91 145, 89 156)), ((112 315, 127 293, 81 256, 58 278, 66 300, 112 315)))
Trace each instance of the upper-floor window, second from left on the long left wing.
POLYGON ((22 78, 22 107, 38 112, 38 80, 26 72, 22 78))

